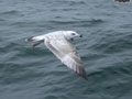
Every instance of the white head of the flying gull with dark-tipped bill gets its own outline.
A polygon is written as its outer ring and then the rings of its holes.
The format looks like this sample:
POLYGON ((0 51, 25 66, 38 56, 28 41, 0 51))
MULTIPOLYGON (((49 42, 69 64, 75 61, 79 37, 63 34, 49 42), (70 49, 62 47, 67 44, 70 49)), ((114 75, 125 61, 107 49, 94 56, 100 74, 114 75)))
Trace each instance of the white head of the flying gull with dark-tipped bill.
POLYGON ((63 32, 64 33, 64 36, 67 38, 67 40, 74 40, 75 37, 82 37, 82 35, 78 34, 77 32, 75 31, 65 31, 63 32))

